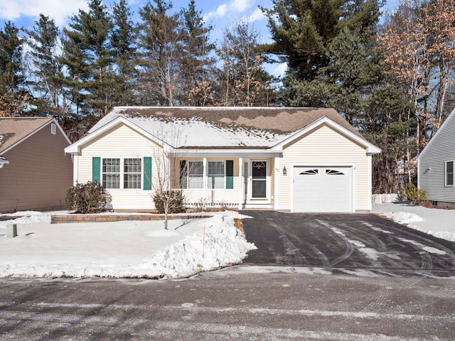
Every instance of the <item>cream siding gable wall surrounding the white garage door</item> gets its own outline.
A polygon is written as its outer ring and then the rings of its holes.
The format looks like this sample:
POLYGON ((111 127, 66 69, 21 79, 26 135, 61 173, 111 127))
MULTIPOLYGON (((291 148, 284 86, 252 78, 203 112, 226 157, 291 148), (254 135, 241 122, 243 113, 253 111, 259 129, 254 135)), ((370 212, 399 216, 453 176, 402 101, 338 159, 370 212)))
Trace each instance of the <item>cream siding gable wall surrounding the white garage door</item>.
POLYGON ((368 179, 368 158, 365 148, 355 144, 329 126, 302 136, 298 141, 284 146, 279 161, 279 209, 291 210, 293 166, 354 166, 353 209, 370 210, 371 193, 368 179), (283 168, 286 167, 287 175, 283 168))

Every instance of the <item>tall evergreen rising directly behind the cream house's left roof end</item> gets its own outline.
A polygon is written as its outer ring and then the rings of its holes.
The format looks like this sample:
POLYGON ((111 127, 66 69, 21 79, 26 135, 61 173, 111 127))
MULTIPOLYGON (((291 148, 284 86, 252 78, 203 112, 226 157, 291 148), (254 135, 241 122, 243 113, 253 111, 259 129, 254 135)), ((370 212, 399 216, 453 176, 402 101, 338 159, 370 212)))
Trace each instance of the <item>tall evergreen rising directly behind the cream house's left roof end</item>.
POLYGON ((80 10, 70 20, 63 41, 67 85, 78 114, 103 117, 112 109, 116 97, 112 19, 102 0, 92 0, 88 12, 80 10))

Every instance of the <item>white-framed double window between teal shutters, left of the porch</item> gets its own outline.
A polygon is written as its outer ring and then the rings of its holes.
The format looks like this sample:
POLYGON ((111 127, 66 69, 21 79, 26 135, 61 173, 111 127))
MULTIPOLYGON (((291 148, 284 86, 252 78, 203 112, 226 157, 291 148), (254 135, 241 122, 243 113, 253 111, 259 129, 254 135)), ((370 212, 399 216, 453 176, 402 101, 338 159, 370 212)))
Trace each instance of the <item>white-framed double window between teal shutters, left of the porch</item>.
POLYGON ((102 159, 102 186, 104 188, 140 189, 141 180, 142 165, 140 158, 102 159), (121 187, 121 183, 123 187, 121 187))

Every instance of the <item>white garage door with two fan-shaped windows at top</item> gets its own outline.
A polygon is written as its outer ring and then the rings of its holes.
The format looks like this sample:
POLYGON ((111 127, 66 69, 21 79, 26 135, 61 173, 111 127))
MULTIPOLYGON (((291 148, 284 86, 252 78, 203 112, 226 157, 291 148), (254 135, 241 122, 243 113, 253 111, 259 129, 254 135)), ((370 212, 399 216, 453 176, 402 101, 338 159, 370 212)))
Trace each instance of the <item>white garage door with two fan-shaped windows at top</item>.
POLYGON ((352 212, 352 167, 294 167, 294 212, 352 212))

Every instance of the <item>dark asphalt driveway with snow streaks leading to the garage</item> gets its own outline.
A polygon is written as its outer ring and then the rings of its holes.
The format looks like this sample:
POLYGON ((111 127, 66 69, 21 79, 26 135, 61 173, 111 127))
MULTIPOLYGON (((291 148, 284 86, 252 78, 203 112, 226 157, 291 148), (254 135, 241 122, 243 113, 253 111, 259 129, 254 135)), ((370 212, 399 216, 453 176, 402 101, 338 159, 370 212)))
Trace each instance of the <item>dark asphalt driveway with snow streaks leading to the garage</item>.
POLYGON ((454 276, 455 243, 375 215, 242 211, 244 264, 307 266, 332 273, 454 276))

